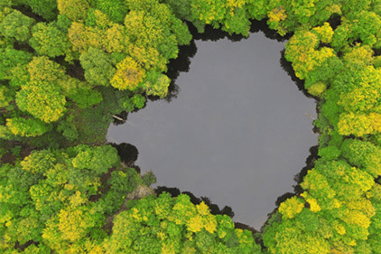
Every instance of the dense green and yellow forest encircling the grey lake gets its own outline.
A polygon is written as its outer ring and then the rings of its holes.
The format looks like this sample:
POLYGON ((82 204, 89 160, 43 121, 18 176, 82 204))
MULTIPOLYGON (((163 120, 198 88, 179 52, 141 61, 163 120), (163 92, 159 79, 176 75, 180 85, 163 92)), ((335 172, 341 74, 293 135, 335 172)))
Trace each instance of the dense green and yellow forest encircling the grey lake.
POLYGON ((381 0, 0 0, 0 144, 3 254, 381 254, 381 0), (254 19, 318 100, 301 193, 255 235, 186 194, 124 202, 156 178, 106 142, 113 116, 166 98, 186 21, 254 19))

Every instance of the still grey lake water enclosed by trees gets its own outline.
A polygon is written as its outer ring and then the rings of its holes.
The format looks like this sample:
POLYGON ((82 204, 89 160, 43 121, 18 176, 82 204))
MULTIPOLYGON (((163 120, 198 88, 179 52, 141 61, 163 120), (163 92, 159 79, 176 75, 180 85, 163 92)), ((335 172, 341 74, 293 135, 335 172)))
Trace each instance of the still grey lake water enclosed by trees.
POLYGON ((107 139, 136 146, 141 174, 157 177, 152 188, 206 196, 259 230, 318 144, 306 115, 317 118, 316 102, 282 69, 285 41, 259 31, 239 42, 194 43, 189 72, 175 80, 177 98, 148 101, 127 123, 110 124, 107 139))

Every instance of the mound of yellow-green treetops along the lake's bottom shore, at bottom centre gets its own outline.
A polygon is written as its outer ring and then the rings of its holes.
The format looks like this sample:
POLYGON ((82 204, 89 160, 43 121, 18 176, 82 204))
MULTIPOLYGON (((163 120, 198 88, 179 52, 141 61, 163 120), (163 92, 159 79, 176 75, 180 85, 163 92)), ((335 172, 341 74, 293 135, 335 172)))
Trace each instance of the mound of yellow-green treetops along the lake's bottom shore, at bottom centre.
POLYGON ((250 231, 234 230, 228 216, 210 214, 207 205, 193 205, 186 194, 149 195, 127 207, 114 217, 113 233, 103 242, 106 254, 260 253, 250 231))

